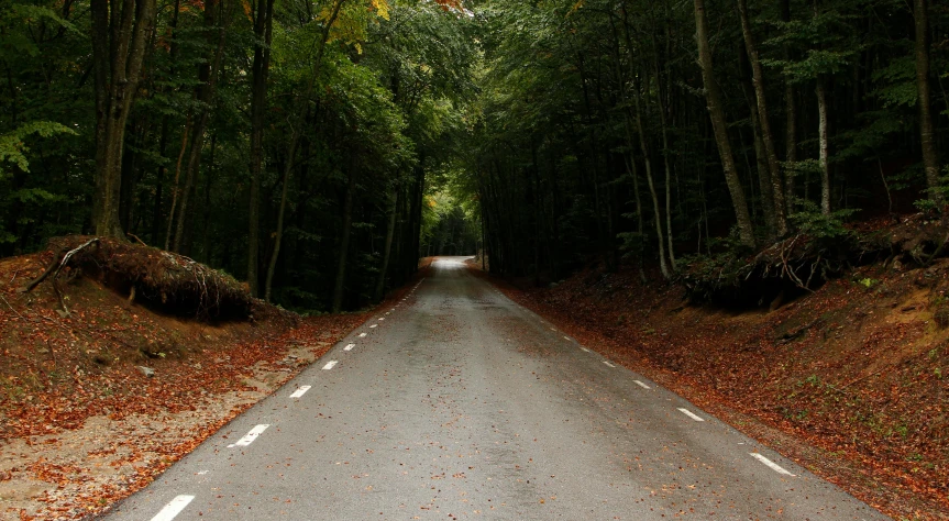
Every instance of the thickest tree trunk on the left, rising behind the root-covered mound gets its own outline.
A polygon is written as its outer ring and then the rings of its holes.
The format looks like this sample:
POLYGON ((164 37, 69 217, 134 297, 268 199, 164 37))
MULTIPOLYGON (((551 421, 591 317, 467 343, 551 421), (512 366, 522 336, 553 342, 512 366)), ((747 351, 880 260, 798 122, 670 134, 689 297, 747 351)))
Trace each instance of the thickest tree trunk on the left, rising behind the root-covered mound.
POLYGON ((119 224, 125 122, 142 74, 155 19, 155 0, 90 0, 96 82, 97 235, 123 237, 119 224))

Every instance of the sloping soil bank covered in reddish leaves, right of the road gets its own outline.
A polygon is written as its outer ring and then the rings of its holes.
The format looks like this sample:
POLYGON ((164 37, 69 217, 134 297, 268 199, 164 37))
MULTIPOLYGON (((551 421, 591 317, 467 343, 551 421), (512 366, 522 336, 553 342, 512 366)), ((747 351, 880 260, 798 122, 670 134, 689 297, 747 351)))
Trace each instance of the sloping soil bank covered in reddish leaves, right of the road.
POLYGON ((774 311, 689 304, 650 275, 594 263, 547 288, 493 280, 894 519, 949 520, 949 259, 862 267, 774 311))

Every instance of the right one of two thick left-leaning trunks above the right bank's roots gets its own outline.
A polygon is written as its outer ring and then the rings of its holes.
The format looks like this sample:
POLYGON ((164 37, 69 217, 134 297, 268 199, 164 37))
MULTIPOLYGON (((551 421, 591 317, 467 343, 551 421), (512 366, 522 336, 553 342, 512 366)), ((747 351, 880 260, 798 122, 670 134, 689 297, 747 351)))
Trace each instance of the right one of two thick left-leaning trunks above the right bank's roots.
MULTIPOLYGON (((779 236, 783 236, 787 233, 787 217, 784 209, 784 186, 781 177, 781 167, 777 164, 777 153, 774 152, 774 133, 771 132, 771 123, 768 118, 768 100, 764 97, 764 73, 761 69, 761 59, 758 56, 754 35, 751 33, 751 22, 748 20, 747 0, 738 0, 738 13, 741 18, 741 34, 744 36, 744 48, 748 52, 748 60, 751 63, 751 80, 754 85, 754 99, 758 102, 758 121, 759 125, 761 125, 761 142, 764 145, 768 173, 771 177, 771 199, 774 202, 775 231, 779 236)), ((764 187, 762 187, 762 189, 764 187)))

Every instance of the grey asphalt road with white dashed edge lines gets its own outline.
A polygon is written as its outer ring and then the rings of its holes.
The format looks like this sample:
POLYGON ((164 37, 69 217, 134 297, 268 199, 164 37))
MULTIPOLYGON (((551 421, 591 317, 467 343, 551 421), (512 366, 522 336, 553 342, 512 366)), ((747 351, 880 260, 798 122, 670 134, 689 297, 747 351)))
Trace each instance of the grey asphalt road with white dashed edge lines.
POLYGON ((887 519, 441 258, 107 520, 887 519))

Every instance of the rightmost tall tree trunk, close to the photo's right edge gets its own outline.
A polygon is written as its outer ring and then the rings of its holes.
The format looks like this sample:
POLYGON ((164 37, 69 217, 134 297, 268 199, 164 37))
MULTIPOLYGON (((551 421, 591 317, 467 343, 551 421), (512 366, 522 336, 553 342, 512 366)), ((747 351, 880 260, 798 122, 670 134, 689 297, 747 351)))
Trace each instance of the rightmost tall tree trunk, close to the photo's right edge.
POLYGON ((939 155, 933 131, 933 109, 929 96, 929 5, 927 0, 915 0, 916 9, 916 91, 919 103, 919 144, 923 147, 923 168, 929 198, 942 203, 939 191, 939 155))

